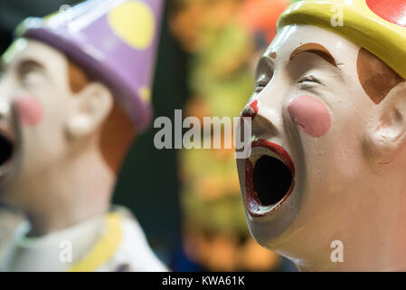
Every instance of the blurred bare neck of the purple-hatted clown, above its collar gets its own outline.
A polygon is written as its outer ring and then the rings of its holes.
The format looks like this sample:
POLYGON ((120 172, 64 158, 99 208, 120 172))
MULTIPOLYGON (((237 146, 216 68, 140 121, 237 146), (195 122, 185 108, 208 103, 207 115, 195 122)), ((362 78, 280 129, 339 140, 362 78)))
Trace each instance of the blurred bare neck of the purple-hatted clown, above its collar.
POLYGON ((31 224, 28 236, 46 235, 109 211, 116 176, 95 146, 64 160, 61 166, 39 172, 42 182, 33 182, 27 190, 41 192, 46 198, 24 210, 31 224))

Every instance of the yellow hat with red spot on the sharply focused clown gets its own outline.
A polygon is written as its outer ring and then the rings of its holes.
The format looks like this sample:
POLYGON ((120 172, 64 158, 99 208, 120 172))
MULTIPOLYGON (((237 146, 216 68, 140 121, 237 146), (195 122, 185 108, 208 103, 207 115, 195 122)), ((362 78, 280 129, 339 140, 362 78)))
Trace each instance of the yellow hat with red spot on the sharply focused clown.
POLYGON ((406 0, 299 1, 280 16, 277 31, 290 24, 311 24, 340 34, 406 78, 406 0), (336 21, 338 14, 342 24, 336 21))

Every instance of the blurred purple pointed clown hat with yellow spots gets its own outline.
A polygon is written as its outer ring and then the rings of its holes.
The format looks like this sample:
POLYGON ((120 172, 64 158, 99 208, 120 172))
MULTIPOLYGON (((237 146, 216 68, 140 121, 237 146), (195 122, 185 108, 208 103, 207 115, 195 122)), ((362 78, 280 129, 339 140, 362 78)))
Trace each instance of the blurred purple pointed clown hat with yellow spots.
POLYGON ((32 38, 65 53, 94 79, 109 86, 144 131, 161 12, 165 0, 89 0, 45 18, 28 18, 17 37, 32 38))

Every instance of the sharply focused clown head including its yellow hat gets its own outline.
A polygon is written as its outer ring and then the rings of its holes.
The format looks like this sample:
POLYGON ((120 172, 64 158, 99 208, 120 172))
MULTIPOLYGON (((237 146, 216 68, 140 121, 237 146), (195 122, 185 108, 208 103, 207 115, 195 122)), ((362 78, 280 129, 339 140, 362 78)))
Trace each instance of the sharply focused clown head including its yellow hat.
POLYGON ((242 112, 252 151, 237 161, 247 221, 303 270, 406 269, 405 12, 299 1, 260 58, 242 112))

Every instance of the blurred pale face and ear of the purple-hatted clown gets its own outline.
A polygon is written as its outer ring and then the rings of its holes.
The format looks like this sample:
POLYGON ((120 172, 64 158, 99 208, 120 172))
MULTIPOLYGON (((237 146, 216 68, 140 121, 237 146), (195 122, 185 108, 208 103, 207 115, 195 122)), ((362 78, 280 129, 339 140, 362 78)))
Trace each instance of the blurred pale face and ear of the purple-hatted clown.
POLYGON ((99 126, 112 101, 110 95, 98 101, 102 94, 97 92, 103 90, 98 84, 71 92, 66 56, 44 43, 17 40, 3 56, 3 65, 0 198, 30 208, 46 203, 44 190, 33 194, 34 189, 63 179, 58 167, 86 148, 89 140, 80 137, 99 126))

